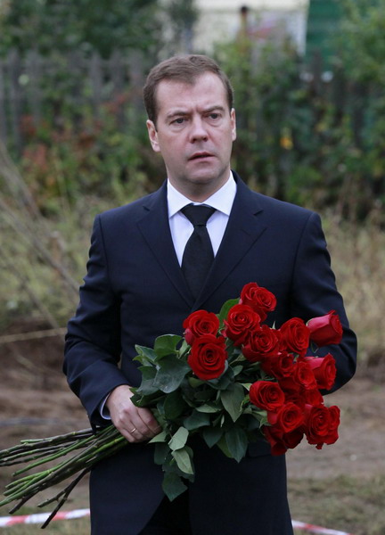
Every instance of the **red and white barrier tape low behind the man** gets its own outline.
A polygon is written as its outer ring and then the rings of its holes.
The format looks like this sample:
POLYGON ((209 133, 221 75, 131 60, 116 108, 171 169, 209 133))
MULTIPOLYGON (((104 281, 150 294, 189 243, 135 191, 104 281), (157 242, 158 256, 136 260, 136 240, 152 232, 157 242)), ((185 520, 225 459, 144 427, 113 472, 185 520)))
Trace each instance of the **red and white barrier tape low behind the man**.
MULTIPOLYGON (((74 511, 59 511, 53 517, 54 520, 73 520, 74 518, 81 518, 82 516, 89 516, 89 509, 75 509, 74 511)), ((38 514, 24 514, 15 516, 0 516, 0 528, 6 526, 13 526, 18 523, 45 523, 50 513, 38 513, 38 514)), ((352 535, 345 531, 328 530, 321 526, 315 526, 309 523, 299 522, 297 520, 291 521, 293 528, 296 530, 307 530, 310 533, 319 533, 321 535, 352 535)))

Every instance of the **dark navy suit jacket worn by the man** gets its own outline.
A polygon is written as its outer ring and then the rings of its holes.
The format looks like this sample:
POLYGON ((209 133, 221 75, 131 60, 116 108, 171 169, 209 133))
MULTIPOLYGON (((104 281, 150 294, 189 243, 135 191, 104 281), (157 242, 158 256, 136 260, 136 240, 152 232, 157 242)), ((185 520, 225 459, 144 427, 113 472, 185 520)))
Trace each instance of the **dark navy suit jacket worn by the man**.
MULTIPOLYGON (((344 337, 338 347, 327 348, 337 360, 334 390, 354 374, 356 337, 335 286, 320 218, 253 193, 235 178, 237 193, 223 242, 195 301, 176 259, 166 185, 95 219, 64 363, 70 387, 93 425, 105 424, 98 407, 112 389, 140 382, 132 360, 135 344, 152 346, 160 334, 181 334, 184 318, 193 310, 218 312, 250 282, 274 292, 278 304, 268 321, 276 326, 291 317, 308 320, 335 309, 344 337)), ((239 464, 198 443, 194 464, 194 535, 292 533, 284 456, 270 456, 266 442, 253 444, 239 464)), ((90 485, 94 535, 139 533, 163 497, 161 480, 148 444, 129 445, 97 465, 90 485)))

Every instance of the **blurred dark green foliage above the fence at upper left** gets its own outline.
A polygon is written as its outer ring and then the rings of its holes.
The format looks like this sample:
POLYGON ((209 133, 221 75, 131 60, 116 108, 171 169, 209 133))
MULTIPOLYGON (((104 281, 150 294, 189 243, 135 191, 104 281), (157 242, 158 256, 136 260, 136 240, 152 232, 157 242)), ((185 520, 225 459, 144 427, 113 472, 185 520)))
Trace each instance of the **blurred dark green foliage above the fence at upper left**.
POLYGON ((0 17, 0 54, 53 50, 109 57, 115 49, 153 53, 160 44, 157 0, 11 0, 0 17))

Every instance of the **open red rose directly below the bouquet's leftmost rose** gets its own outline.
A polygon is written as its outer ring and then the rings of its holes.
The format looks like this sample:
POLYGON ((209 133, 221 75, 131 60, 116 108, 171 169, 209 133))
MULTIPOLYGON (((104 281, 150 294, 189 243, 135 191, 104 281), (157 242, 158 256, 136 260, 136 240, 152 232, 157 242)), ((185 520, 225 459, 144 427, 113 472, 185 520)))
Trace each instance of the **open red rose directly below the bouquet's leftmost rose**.
POLYGON ((194 340, 187 362, 197 377, 209 381, 224 373, 226 358, 225 338, 203 334, 194 340))

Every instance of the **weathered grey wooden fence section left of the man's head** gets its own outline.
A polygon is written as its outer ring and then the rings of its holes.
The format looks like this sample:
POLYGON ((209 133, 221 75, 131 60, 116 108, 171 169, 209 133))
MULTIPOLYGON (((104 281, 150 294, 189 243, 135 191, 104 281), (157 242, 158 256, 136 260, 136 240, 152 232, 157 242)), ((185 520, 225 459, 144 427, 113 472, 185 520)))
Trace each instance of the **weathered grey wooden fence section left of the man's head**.
POLYGON ((115 52, 109 59, 98 53, 90 58, 73 53, 47 59, 36 52, 22 58, 12 51, 0 59, 0 139, 20 152, 28 130, 46 119, 47 111, 53 122, 60 120, 64 105, 76 121, 79 105, 88 104, 97 117, 103 104, 115 104, 123 123, 126 105, 143 110, 144 70, 143 57, 137 52, 115 52))

